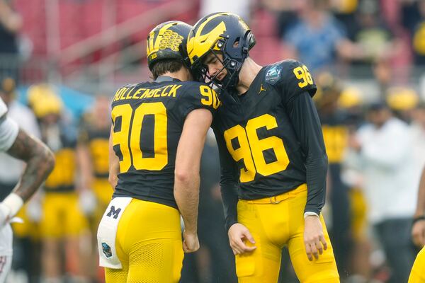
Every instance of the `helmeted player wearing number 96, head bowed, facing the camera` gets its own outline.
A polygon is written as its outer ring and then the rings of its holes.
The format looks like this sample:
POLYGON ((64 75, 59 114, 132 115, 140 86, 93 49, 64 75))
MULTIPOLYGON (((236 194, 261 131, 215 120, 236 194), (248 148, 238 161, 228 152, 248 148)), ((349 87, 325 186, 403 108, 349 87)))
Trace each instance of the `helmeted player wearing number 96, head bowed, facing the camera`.
POLYGON ((187 47, 196 79, 221 88, 212 128, 237 277, 277 282, 288 245, 300 282, 339 282, 321 215, 327 154, 316 86, 300 62, 256 64, 254 44, 239 16, 212 13, 194 25, 187 47))

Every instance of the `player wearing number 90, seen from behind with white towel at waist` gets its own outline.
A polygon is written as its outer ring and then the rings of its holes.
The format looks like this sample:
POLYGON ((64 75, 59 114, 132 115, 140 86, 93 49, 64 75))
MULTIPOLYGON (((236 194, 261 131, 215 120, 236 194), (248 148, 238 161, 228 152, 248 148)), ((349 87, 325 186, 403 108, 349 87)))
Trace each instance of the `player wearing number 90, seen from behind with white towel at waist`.
POLYGON ((108 283, 179 282, 183 252, 199 248, 200 156, 220 101, 205 83, 189 81, 190 30, 179 21, 154 28, 147 37, 154 81, 123 86, 113 98, 115 192, 98 227, 108 283))

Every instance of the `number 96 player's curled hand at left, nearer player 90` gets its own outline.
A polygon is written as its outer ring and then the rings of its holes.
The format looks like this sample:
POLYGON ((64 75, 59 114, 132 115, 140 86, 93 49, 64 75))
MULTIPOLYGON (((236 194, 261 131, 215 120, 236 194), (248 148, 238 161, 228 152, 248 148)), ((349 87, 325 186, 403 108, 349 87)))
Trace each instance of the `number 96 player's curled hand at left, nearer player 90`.
POLYGON ((251 233, 244 225, 240 223, 233 224, 227 234, 229 235, 229 243, 234 255, 249 253, 256 249, 256 246, 252 246, 255 243, 254 237, 252 237, 251 233), (246 240, 252 245, 246 246, 244 243, 246 240))

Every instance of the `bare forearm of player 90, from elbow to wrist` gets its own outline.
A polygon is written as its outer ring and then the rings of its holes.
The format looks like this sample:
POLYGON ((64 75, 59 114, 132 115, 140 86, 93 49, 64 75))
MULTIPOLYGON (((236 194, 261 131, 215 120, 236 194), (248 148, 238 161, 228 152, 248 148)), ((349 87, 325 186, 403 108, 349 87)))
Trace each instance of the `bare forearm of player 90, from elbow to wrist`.
POLYGON ((189 233, 198 229, 199 174, 176 173, 174 198, 189 233))

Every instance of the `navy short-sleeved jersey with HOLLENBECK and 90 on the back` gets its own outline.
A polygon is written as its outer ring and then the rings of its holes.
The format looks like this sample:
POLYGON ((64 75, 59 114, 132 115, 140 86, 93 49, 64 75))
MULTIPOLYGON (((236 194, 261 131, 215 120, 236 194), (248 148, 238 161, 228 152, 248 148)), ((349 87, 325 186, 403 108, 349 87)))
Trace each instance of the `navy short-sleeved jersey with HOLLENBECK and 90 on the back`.
POLYGON ((112 102, 113 150, 120 160, 113 197, 135 197, 177 207, 176 151, 186 116, 219 107, 217 93, 203 83, 168 76, 118 89, 112 102))

